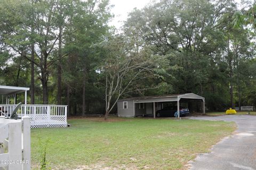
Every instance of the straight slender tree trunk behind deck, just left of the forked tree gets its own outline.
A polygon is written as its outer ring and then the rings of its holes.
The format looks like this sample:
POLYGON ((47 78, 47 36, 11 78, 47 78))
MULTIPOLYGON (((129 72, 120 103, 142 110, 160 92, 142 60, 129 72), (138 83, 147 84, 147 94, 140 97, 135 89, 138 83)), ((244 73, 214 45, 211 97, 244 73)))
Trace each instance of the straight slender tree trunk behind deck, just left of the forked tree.
POLYGON ((31 45, 31 71, 30 71, 30 104, 35 104, 35 46, 31 45))

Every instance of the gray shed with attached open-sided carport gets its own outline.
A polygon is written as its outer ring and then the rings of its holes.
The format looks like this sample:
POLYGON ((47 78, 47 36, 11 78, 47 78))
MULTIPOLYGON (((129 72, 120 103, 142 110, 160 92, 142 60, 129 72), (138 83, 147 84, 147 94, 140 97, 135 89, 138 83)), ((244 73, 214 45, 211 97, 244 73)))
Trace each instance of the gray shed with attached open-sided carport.
POLYGON ((163 108, 165 103, 177 105, 178 118, 180 117, 180 103, 189 101, 202 102, 202 112, 205 114, 205 100, 202 96, 194 93, 169 94, 158 96, 143 96, 127 98, 117 101, 118 117, 136 117, 141 115, 156 117, 156 111, 163 108), (176 104, 177 103, 177 104, 176 104))

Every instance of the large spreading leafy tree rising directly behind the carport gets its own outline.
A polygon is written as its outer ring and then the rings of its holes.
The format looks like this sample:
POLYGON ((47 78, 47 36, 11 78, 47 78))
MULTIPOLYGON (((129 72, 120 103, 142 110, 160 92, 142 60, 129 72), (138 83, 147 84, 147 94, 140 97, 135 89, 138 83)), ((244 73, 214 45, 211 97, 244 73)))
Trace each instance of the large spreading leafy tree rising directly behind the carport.
POLYGON ((165 80, 174 93, 226 99, 222 95, 227 93, 223 78, 227 75, 218 65, 221 57, 217 53, 225 44, 222 32, 230 21, 225 16, 234 10, 232 1, 164 0, 133 10, 124 31, 138 48, 150 45, 154 54, 170 60, 166 71, 172 78, 165 80))

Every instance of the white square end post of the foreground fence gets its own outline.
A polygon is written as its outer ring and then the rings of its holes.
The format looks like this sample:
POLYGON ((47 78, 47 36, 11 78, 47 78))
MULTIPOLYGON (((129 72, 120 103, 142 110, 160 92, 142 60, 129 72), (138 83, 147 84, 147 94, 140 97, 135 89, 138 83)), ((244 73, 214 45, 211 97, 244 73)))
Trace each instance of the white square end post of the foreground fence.
POLYGON ((23 120, 23 170, 30 170, 30 117, 24 116, 23 120))

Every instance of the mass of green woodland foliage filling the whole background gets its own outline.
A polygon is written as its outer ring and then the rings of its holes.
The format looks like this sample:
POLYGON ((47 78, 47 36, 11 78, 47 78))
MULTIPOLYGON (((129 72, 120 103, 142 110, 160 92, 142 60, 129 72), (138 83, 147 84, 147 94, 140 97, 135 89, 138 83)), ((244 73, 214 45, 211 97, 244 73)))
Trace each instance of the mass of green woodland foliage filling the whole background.
MULTIPOLYGON (((113 17, 108 0, 0 3, 0 84, 30 86, 34 44, 37 104, 57 103, 61 74, 61 101, 71 115, 81 114, 82 106, 103 114, 106 89, 100 84, 107 68, 113 75, 127 57, 137 56, 133 64, 150 59, 154 66, 123 98, 196 93, 209 110, 256 105, 255 4, 237 10, 231 0, 158 1, 131 11, 117 40, 108 26, 113 17)), ((111 103, 117 98, 113 94, 111 103)))

